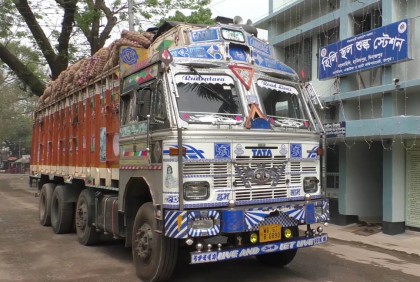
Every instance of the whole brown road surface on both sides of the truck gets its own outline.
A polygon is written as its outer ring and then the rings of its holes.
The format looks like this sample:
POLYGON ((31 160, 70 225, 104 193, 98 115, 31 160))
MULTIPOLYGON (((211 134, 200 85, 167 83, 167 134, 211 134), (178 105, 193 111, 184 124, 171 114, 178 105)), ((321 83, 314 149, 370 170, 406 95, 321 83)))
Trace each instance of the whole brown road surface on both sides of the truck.
MULTIPOLYGON (((0 174, 0 281, 138 282, 121 241, 86 247, 75 234, 57 235, 38 222, 36 188, 27 176, 0 174)), ((254 258, 203 265, 179 263, 174 282, 420 281, 420 258, 331 240, 299 250, 282 269, 254 258)))

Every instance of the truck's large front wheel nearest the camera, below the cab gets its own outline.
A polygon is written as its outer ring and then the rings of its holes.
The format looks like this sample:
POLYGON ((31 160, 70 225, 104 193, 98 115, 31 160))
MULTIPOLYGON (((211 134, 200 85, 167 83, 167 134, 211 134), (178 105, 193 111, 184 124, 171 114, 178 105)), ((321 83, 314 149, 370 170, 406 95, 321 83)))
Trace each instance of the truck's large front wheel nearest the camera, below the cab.
POLYGON ((143 204, 134 220, 133 261, 142 281, 166 281, 175 269, 178 241, 157 232, 152 203, 143 204))

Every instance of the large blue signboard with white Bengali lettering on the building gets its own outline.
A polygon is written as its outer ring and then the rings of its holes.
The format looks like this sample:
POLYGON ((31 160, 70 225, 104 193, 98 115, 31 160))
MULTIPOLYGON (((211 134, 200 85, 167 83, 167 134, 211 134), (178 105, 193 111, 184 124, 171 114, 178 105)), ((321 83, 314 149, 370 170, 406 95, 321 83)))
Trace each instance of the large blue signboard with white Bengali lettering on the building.
POLYGON ((411 59, 412 22, 376 28, 319 50, 319 79, 328 79, 411 59))

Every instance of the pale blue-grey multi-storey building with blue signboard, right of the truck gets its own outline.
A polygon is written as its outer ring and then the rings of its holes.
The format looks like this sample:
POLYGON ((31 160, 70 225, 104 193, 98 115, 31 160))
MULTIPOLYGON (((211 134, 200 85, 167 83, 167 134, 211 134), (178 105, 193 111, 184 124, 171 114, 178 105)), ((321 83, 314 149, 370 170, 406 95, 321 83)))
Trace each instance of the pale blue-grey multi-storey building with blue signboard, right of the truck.
POLYGON ((269 0, 256 23, 313 84, 328 107, 324 124, 338 129, 327 177, 336 223, 420 230, 419 15, 417 0, 269 0), (363 49, 371 55, 357 55, 363 49))

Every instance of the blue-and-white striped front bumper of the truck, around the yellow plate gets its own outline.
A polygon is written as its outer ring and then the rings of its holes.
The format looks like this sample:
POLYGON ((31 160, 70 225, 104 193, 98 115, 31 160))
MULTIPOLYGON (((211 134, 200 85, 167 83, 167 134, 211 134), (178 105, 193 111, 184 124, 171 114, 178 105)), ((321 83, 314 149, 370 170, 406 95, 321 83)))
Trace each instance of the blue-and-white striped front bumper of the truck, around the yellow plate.
POLYGON ((260 207, 235 207, 205 210, 166 210, 164 233, 170 238, 209 237, 258 230, 259 226, 280 224, 292 227, 303 224, 327 222, 329 203, 327 199, 285 202, 260 207), (197 221, 212 220, 212 226, 193 228, 197 221))

